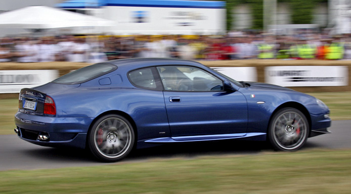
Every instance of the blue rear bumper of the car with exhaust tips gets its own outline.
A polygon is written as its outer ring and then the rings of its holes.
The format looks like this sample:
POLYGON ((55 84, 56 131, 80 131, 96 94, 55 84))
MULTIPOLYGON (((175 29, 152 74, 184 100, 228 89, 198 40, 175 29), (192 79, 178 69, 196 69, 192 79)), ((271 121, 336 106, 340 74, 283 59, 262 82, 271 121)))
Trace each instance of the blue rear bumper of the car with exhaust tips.
POLYGON ((21 139, 40 146, 84 149, 92 121, 89 117, 45 117, 17 112, 15 131, 21 139))

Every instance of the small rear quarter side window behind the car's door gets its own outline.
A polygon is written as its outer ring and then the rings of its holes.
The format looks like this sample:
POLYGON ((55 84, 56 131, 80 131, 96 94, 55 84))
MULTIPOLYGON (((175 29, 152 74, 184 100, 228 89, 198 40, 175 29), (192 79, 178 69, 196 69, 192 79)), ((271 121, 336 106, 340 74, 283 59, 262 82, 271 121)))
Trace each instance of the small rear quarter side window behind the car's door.
POLYGON ((134 86, 143 89, 162 90, 162 85, 157 77, 154 67, 137 69, 128 73, 129 81, 134 86))

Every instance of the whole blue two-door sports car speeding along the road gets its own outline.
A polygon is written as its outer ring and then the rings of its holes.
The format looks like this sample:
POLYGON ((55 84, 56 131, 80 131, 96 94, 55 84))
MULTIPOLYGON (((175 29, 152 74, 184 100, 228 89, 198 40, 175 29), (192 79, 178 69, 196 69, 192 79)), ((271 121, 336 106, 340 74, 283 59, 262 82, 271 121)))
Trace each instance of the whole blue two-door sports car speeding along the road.
POLYGON ((115 162, 133 148, 221 139, 295 151, 329 133, 331 120, 322 101, 292 89, 238 82, 192 61, 136 58, 23 88, 15 123, 31 143, 86 148, 115 162))

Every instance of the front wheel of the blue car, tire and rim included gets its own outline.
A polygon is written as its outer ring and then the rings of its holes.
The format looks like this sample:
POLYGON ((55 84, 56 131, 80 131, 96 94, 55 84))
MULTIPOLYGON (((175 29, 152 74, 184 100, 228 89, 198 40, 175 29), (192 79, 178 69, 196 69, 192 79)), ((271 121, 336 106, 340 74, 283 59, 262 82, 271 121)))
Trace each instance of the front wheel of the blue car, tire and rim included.
POLYGON ((274 150, 296 151, 305 144, 309 131, 309 123, 301 111, 284 108, 272 117, 268 138, 274 150))

